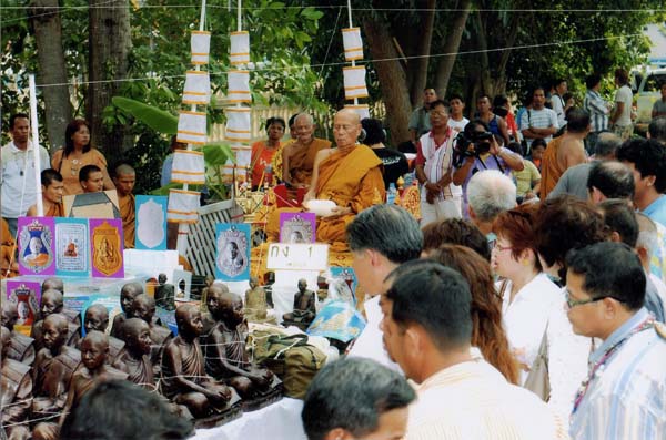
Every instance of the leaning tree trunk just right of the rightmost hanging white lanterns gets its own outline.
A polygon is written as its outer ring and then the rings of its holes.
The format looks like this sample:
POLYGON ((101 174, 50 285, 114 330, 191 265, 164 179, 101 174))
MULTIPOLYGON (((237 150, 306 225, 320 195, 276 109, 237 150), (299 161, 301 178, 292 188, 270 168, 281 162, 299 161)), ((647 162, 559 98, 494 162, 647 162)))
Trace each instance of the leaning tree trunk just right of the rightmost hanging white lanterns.
POLYGON ((386 121, 391 130, 391 139, 394 145, 410 139, 410 93, 407 91, 405 71, 395 50, 386 23, 380 22, 372 17, 363 19, 363 30, 367 39, 367 45, 374 61, 382 88, 382 96, 386 105, 386 121), (379 61, 389 60, 389 61, 379 61))

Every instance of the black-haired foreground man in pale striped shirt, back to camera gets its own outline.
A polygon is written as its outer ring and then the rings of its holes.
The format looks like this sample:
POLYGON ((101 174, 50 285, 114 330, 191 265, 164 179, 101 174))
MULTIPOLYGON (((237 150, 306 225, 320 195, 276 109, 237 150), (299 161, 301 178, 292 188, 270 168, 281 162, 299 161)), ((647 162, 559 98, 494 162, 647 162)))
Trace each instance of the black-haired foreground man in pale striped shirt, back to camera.
POLYGON ((403 264, 380 300, 389 355, 417 383, 406 440, 567 439, 565 423, 471 350, 472 295, 457 272, 403 264))

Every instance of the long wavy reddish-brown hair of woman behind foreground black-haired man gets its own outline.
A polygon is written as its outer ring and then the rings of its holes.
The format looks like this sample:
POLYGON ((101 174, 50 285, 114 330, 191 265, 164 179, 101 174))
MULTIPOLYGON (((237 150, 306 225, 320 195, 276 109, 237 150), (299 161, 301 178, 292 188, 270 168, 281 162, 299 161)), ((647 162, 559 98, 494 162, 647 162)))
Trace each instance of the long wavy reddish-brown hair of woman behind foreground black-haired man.
POLYGON ((488 263, 468 247, 442 245, 428 259, 457 270, 472 293, 472 345, 512 383, 519 385, 516 359, 502 327, 502 299, 495 291, 488 263))

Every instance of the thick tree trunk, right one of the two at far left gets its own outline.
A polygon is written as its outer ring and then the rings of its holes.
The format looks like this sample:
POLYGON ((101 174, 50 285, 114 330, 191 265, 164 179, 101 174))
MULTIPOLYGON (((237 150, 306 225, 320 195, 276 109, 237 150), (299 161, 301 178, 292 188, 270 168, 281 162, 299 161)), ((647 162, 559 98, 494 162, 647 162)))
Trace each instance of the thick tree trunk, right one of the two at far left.
POLYGON ((104 151, 107 157, 122 155, 124 127, 111 131, 102 126, 102 111, 111 103, 127 78, 128 54, 132 47, 130 9, 127 0, 90 0, 89 30, 89 85, 87 115, 92 142, 104 151))

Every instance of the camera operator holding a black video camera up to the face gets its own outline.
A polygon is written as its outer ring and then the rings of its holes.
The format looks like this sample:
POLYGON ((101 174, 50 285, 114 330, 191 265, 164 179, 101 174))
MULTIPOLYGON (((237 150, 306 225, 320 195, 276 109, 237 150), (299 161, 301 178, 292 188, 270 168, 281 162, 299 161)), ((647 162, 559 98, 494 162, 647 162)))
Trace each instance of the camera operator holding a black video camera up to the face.
POLYGON ((512 170, 522 171, 523 157, 500 146, 488 126, 480 120, 472 121, 458 135, 454 149, 453 183, 463 186, 463 216, 467 213, 467 184, 480 171, 497 170, 511 176, 512 170))

